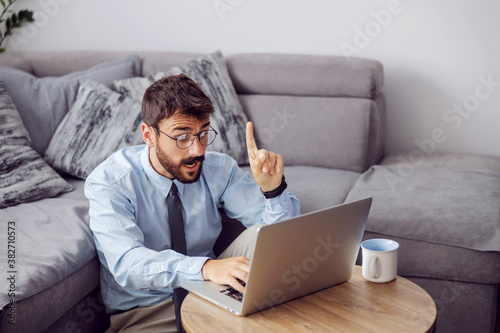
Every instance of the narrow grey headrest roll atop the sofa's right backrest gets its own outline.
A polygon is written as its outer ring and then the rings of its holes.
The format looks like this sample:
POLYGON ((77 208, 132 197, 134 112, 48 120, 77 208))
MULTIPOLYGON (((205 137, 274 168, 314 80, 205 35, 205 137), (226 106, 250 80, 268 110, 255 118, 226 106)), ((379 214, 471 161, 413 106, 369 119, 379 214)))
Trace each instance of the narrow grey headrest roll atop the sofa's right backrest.
POLYGON ((376 60, 302 54, 235 54, 227 57, 240 94, 375 99, 384 84, 376 60))

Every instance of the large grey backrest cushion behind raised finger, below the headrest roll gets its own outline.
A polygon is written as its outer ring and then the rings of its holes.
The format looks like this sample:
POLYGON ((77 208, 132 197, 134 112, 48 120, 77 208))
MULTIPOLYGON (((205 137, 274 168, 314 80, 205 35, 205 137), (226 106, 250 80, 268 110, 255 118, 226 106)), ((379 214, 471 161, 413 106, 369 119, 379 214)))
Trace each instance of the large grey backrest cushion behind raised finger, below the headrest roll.
POLYGON ((258 147, 282 154, 288 165, 363 172, 383 152, 376 101, 274 95, 240 100, 255 124, 258 147))

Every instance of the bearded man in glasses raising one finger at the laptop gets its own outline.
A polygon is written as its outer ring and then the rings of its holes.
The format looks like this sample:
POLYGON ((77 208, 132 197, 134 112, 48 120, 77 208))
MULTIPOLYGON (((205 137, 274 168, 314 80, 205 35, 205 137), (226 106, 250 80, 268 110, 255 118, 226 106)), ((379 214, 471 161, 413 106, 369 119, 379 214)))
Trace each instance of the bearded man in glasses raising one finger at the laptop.
POLYGON ((116 152, 86 180, 110 332, 175 332, 172 290, 184 280, 211 280, 244 292, 238 279, 247 279, 255 228, 216 259, 219 207, 246 227, 299 214, 298 200, 285 189, 283 158, 257 148, 252 123, 247 149, 255 181, 229 156, 205 153, 216 137, 213 112, 187 76, 158 80, 144 94, 146 145, 116 152), (175 195, 186 254, 173 250, 177 238, 171 239, 170 223, 176 214, 167 201, 175 195))

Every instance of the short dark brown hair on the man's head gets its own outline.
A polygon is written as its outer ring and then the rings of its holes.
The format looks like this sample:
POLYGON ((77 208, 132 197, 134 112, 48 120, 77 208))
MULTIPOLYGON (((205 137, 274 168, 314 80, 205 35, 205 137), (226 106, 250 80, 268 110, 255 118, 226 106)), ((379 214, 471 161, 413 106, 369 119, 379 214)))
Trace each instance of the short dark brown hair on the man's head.
POLYGON ((184 74, 159 79, 144 93, 142 121, 158 128, 163 119, 174 113, 205 119, 214 112, 212 102, 201 88, 184 74))

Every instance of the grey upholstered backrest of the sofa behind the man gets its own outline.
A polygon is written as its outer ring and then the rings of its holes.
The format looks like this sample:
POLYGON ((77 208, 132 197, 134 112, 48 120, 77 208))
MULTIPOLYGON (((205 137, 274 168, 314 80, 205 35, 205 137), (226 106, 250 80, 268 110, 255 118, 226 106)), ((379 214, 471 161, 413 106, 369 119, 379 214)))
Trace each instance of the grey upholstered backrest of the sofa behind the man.
MULTIPOLYGON (((0 66, 35 76, 59 76, 137 54, 142 74, 183 65, 182 52, 7 52, 0 66)), ((258 144, 287 165, 365 171, 384 152, 382 65, 375 60, 293 54, 234 54, 228 70, 258 144)), ((1 79, 1 78, 0 78, 1 79)))

